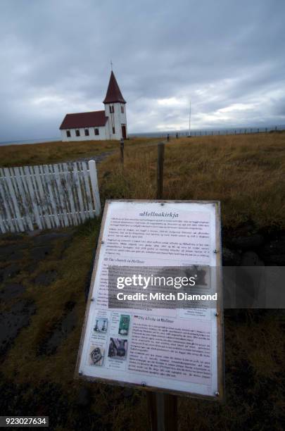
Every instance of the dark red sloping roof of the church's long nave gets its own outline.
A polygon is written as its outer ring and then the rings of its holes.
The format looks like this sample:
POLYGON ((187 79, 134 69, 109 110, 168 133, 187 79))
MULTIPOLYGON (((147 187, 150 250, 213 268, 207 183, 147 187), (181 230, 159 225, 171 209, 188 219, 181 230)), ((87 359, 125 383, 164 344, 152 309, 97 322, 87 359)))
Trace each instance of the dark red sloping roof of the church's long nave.
POLYGON ((80 127, 100 127, 106 125, 108 117, 105 111, 81 112, 66 114, 60 129, 77 129, 80 127))

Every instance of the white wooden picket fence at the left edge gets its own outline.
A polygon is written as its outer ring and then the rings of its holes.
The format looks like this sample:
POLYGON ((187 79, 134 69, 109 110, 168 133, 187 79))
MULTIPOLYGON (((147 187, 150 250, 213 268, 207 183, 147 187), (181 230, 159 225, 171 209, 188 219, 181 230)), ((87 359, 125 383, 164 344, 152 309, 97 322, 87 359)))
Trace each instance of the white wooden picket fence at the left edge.
POLYGON ((0 232, 79 225, 101 213, 95 161, 0 168, 0 232))

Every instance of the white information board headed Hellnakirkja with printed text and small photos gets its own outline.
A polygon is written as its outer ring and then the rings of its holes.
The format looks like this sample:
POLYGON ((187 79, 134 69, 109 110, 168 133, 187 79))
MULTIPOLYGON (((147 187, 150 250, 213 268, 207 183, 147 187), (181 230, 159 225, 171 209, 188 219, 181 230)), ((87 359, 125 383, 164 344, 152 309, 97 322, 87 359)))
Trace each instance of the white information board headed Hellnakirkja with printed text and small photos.
MULTIPOLYGON (((220 202, 106 201, 75 376, 222 399, 222 278, 217 268, 221 268, 220 202), (156 267, 162 273, 169 267, 196 268, 196 272, 215 268, 204 283, 215 287, 215 301, 208 308, 203 304, 178 308, 166 302, 163 306, 163 301, 149 307, 150 293, 144 286, 140 292, 146 294, 148 308, 124 309, 123 301, 120 307, 109 308, 108 273, 115 267, 120 274, 124 266, 142 272, 156 267)), ((127 282, 126 277, 122 280, 127 282)), ((124 284, 118 292, 122 296, 124 284)))

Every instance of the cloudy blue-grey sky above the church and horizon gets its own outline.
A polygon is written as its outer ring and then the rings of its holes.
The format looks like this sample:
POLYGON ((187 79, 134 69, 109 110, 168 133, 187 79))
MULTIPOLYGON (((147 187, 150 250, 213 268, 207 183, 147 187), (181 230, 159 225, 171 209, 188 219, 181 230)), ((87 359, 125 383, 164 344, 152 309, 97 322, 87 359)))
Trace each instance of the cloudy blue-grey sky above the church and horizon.
POLYGON ((1 0, 0 142, 103 109, 131 132, 285 124, 284 0, 1 0))

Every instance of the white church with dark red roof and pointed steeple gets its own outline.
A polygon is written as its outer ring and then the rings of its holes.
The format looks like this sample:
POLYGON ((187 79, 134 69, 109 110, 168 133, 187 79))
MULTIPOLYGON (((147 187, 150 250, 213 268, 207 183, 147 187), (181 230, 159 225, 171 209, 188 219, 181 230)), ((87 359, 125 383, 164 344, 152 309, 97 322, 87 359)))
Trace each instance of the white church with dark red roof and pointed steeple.
POLYGON ((127 138, 126 101, 113 70, 103 104, 103 111, 66 114, 59 127, 62 141, 127 138))

